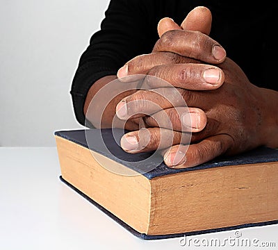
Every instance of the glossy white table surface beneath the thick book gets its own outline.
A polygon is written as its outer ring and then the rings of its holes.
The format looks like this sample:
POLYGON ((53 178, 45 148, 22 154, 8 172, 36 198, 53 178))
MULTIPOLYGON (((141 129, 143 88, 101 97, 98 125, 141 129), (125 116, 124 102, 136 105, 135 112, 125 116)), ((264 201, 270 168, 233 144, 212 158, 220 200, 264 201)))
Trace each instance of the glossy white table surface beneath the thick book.
POLYGON ((56 147, 0 147, 0 166, 1 250, 214 249, 206 247, 213 239, 226 246, 219 249, 243 249, 236 239, 275 244, 245 249, 278 249, 277 224, 240 229, 240 238, 236 231, 195 235, 186 246, 183 238, 136 238, 60 181, 56 147))

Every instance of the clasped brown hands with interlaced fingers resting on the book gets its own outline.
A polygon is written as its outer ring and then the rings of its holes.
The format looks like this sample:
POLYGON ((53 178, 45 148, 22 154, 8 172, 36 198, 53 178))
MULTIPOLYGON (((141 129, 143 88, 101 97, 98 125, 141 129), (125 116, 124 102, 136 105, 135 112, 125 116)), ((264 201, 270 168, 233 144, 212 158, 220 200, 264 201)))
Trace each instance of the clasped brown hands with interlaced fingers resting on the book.
POLYGON ((187 111, 183 110, 179 99, 175 99, 163 81, 151 83, 149 87, 153 90, 138 90, 124 97, 117 105, 117 117, 122 120, 144 117, 150 135, 142 147, 139 130, 126 133, 121 140, 125 151, 161 149, 165 164, 180 168, 263 144, 259 88, 227 58, 221 45, 208 36, 210 29, 211 12, 204 7, 190 12, 181 26, 172 19, 162 19, 158 24, 160 38, 152 53, 137 56, 119 69, 117 76, 122 81, 125 76, 135 74, 163 79, 177 89, 188 106, 187 111), (194 22, 198 15, 204 22, 194 22), (161 107, 163 112, 147 105, 147 101, 161 107), (186 115, 190 116, 190 123, 186 115), (189 145, 183 140, 185 131, 192 133, 189 145), (167 133, 172 133, 171 144, 167 140, 159 142, 161 134, 167 133))

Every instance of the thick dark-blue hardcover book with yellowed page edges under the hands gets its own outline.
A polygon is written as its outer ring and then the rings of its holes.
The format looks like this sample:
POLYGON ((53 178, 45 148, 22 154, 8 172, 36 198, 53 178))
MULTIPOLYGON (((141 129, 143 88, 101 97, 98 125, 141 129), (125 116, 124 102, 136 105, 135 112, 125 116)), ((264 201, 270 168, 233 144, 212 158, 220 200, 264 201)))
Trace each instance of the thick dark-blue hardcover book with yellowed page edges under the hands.
POLYGON ((153 152, 123 151, 123 133, 116 128, 56 131, 59 177, 138 238, 278 223, 277 149, 259 147, 172 169, 162 156, 152 158, 153 152))

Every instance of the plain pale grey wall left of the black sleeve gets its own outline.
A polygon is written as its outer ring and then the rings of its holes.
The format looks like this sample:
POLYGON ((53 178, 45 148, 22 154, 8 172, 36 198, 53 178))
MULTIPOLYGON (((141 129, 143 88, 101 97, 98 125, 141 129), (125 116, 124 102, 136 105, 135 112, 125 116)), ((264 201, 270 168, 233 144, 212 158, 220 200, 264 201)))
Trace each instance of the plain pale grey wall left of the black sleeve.
POLYGON ((0 0, 0 147, 55 146, 83 128, 70 88, 108 0, 0 0))

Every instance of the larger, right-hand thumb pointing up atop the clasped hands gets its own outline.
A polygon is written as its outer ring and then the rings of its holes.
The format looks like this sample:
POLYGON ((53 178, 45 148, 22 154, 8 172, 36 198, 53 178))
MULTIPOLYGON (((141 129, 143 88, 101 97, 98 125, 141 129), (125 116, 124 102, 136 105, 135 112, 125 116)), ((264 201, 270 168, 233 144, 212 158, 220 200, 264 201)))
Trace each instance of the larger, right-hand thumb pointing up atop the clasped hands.
POLYGON ((206 35, 211 32, 211 10, 204 6, 193 8, 181 23, 181 28, 188 31, 200 31, 206 35))

